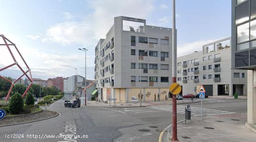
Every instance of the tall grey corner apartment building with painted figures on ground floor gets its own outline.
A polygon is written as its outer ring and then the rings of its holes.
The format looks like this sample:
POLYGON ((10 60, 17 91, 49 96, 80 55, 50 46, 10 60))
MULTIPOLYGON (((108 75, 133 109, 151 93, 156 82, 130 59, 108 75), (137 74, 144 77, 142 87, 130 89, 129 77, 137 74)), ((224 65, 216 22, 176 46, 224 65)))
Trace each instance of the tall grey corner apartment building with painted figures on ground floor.
POLYGON ((95 46, 98 97, 138 102, 168 95, 171 82, 172 29, 146 25, 145 19, 115 17, 114 25, 95 46), (141 62, 141 63, 140 63, 141 62))

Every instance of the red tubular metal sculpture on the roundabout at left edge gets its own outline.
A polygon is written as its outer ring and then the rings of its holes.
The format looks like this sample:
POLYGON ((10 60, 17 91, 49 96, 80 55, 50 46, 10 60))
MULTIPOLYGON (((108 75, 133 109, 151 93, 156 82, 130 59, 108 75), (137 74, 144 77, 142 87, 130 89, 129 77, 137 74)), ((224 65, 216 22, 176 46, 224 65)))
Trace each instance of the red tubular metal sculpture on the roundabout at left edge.
POLYGON ((7 100, 10 98, 10 94, 11 94, 11 92, 12 92, 14 83, 16 83, 18 80, 20 80, 20 78, 23 77, 24 75, 26 75, 27 78, 28 78, 28 80, 30 80, 30 82, 31 82, 30 85, 27 87, 26 91, 25 91, 25 92, 23 93, 23 95, 22 95, 22 97, 25 97, 26 94, 27 94, 27 92, 28 92, 28 90, 31 88, 31 86, 32 86, 32 84, 33 84, 33 78, 32 78, 32 74, 31 74, 30 68, 28 67, 27 62, 24 60, 23 56, 20 54, 20 51, 18 50, 18 48, 16 47, 16 45, 15 45, 13 42, 11 42, 8 38, 6 38, 4 35, 0 35, 0 37, 2 37, 2 39, 3 39, 3 41, 4 41, 4 44, 0 44, 0 46, 6 46, 6 47, 7 47, 8 51, 10 52, 10 54, 11 54, 11 56, 12 56, 12 58, 13 58, 13 62, 14 62, 13 64, 8 65, 7 67, 0 68, 0 72, 3 71, 3 70, 5 70, 5 69, 7 69, 7 68, 10 68, 10 67, 12 67, 12 66, 14 66, 14 65, 17 65, 17 67, 20 68, 21 72, 23 73, 18 79, 14 80, 13 82, 12 82, 11 80, 8 80, 7 78, 5 78, 5 77, 3 77, 3 76, 0 76, 0 78, 2 78, 2 79, 4 79, 4 80, 6 80, 6 81, 12 83, 12 85, 11 85, 11 87, 10 87, 10 90, 9 90, 9 92, 8 92, 8 94, 7 94, 7 97, 6 97, 5 101, 7 101, 7 100), (19 63, 16 61, 15 57, 13 56, 13 52, 12 52, 12 50, 10 49, 10 46, 13 46, 13 47, 17 50, 17 52, 19 53, 19 55, 20 55, 22 61, 25 63, 25 65, 26 65, 26 67, 27 67, 27 71, 26 71, 26 72, 20 67, 19 63), (27 74, 28 72, 29 72, 29 75, 27 74))

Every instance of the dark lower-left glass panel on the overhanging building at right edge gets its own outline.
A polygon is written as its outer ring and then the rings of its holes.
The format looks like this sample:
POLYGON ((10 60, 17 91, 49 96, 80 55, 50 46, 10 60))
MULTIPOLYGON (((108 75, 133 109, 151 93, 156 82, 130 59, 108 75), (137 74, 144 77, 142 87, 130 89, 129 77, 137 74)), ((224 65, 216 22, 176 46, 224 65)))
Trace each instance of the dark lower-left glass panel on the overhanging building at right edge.
POLYGON ((244 67, 249 65, 249 51, 236 53, 235 56, 236 67, 244 67))

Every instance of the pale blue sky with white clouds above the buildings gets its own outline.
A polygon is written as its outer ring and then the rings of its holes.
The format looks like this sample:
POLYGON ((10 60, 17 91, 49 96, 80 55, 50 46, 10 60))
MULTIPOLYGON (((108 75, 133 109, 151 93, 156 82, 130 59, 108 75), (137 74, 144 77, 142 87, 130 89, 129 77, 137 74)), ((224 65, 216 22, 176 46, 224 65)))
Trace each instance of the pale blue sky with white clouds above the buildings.
MULTIPOLYGON (((94 79, 94 47, 114 17, 146 19, 147 25, 172 27, 172 0, 0 0, 0 34, 16 44, 33 78, 84 76, 94 79)), ((177 55, 231 36, 231 0, 176 0, 177 55)), ((3 40, 0 39, 0 44, 3 40)), ((17 61, 25 64, 11 47, 17 61)), ((13 60, 0 46, 0 68, 13 60)), ((18 78, 17 67, 0 75, 18 78)))

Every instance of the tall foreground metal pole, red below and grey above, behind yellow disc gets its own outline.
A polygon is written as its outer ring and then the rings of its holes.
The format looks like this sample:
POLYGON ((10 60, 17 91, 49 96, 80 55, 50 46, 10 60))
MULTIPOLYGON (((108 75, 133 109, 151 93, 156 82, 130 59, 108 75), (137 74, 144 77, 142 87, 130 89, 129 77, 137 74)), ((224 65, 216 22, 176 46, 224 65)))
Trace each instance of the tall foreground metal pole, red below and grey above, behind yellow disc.
MULTIPOLYGON (((176 49, 176 27, 175 27, 175 0, 173 0, 173 25, 172 25, 172 83, 176 82, 177 71, 177 49, 176 49)), ((172 141, 179 141, 177 138, 177 104, 176 95, 172 99, 172 141)))

